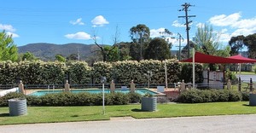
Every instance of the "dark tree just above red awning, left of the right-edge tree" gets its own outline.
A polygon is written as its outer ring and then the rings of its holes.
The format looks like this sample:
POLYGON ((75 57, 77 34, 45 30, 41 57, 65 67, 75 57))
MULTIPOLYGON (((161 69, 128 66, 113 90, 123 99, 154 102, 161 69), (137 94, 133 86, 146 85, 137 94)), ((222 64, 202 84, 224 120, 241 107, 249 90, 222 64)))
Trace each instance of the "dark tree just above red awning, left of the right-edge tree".
POLYGON ((231 47, 230 55, 238 55, 239 54, 239 51, 244 46, 244 43, 243 43, 244 38, 245 37, 243 35, 230 38, 230 41, 229 41, 229 45, 231 47))

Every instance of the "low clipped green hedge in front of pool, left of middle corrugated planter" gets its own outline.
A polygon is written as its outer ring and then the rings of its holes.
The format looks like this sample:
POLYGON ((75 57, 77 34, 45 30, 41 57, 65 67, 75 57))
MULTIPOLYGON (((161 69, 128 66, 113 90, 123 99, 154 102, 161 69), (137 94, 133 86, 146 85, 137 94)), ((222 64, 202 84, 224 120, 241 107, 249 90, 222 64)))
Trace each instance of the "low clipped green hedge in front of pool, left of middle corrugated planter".
MULTIPOLYGON (((22 95, 21 93, 9 93, 0 97, 0 106, 7 107, 8 100, 12 98, 26 98, 28 106, 98 106, 102 105, 102 94, 70 93, 47 94, 42 96, 22 95)), ((125 105, 137 103, 141 95, 137 93, 110 93, 105 94, 105 105, 125 105)))

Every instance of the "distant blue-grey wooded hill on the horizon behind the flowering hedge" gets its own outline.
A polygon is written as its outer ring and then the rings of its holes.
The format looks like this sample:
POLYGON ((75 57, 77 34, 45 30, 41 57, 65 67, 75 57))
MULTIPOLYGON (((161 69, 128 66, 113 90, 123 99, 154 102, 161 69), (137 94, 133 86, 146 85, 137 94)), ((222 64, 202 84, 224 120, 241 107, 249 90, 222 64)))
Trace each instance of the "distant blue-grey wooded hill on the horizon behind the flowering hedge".
POLYGON ((19 53, 26 53, 28 51, 43 61, 54 61, 55 55, 57 54, 67 57, 78 52, 80 59, 84 60, 86 57, 92 55, 91 51, 93 49, 97 49, 95 44, 84 43, 29 43, 18 47, 19 53))

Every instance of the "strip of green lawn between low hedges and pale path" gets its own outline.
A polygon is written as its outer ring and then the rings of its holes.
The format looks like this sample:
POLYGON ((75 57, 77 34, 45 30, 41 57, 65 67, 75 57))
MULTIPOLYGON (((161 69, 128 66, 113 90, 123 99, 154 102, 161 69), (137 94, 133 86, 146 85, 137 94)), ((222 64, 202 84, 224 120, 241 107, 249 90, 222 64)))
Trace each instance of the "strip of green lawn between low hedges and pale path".
POLYGON ((256 114, 256 107, 248 101, 201 104, 158 104, 156 112, 142 112, 141 105, 93 107, 28 107, 27 115, 10 117, 9 107, 0 107, 0 124, 55 123, 88 120, 108 120, 110 117, 131 116, 136 119, 171 118, 186 116, 256 114))

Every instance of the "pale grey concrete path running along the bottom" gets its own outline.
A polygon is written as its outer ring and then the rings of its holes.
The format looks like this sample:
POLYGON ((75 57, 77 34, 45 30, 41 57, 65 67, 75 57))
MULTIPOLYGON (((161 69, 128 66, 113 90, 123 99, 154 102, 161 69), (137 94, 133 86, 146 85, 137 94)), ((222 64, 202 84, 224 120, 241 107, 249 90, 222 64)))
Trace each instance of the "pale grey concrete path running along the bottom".
POLYGON ((0 133, 179 133, 256 132, 256 115, 224 115, 171 119, 113 119, 51 124, 0 126, 0 133))

